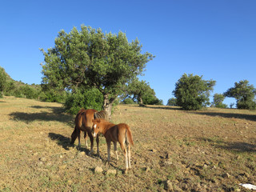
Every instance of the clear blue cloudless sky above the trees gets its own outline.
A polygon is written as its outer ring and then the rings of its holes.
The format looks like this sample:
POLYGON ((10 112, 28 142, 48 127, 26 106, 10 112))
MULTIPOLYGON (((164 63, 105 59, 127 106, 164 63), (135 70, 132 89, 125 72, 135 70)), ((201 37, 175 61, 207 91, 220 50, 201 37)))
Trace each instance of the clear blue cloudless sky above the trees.
POLYGON ((156 56, 141 79, 164 104, 184 73, 215 80, 212 95, 244 79, 256 86, 255 0, 2 1, 0 24, 0 66, 28 84, 42 81, 39 48, 84 24, 138 38, 156 56))

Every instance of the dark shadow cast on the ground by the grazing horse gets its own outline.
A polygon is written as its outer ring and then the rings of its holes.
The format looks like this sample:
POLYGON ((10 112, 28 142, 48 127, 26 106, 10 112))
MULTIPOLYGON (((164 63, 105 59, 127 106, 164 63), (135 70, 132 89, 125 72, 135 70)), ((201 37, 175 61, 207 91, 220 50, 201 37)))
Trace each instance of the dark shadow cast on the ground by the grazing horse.
MULTIPOLYGON (((74 145, 70 144, 70 138, 63 136, 62 134, 49 133, 48 137, 51 140, 56 141, 58 146, 62 146, 65 150, 70 150, 70 147, 74 147, 74 145)), ((90 152, 90 150, 85 147, 80 147, 78 148, 78 150, 85 151, 86 154, 90 152)))

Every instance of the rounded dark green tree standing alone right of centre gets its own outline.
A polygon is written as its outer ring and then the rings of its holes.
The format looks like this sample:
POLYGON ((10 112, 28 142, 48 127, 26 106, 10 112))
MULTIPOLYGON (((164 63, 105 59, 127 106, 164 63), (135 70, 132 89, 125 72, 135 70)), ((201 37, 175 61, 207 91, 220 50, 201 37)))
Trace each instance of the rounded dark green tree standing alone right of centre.
POLYGON ((203 106, 210 105, 210 91, 214 85, 215 81, 202 80, 202 76, 183 74, 173 91, 177 105, 182 106, 183 110, 200 110, 203 106))

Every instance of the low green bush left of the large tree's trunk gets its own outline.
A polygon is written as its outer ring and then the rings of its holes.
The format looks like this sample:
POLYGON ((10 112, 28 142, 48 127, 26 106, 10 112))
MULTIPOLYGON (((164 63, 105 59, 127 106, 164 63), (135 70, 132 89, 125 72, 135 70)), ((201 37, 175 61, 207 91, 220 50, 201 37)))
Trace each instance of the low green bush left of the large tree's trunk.
POLYGON ((102 103, 103 95, 99 90, 76 90, 67 96, 64 106, 66 112, 77 114, 82 108, 102 110, 102 103))

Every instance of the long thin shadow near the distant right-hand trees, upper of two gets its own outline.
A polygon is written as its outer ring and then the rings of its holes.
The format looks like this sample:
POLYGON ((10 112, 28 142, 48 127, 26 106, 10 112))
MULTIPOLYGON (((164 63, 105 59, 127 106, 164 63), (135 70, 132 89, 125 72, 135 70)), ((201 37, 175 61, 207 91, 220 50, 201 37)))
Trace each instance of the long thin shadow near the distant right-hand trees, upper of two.
POLYGON ((202 115, 209 115, 211 117, 222 117, 222 118, 240 118, 246 119, 249 121, 256 121, 256 115, 254 114, 226 114, 220 112, 200 112, 200 111, 190 111, 192 114, 202 114, 202 115))

